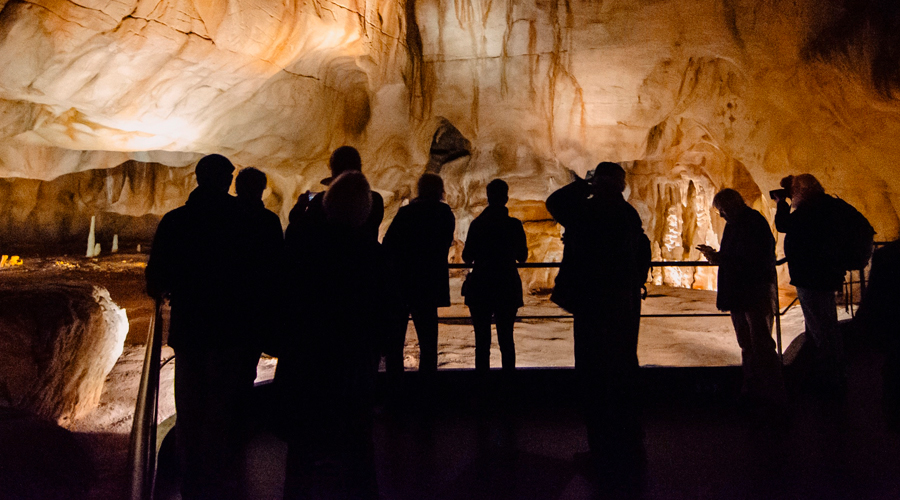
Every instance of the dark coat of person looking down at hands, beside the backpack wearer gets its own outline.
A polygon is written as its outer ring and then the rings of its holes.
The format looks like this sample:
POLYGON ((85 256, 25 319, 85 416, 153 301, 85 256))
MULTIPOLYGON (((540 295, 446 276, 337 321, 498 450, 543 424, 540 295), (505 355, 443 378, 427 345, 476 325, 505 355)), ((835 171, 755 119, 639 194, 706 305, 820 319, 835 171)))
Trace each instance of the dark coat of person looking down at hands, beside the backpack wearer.
POLYGON ((775 238, 766 218, 750 207, 731 216, 722 233, 716 307, 747 310, 772 299, 775 238))

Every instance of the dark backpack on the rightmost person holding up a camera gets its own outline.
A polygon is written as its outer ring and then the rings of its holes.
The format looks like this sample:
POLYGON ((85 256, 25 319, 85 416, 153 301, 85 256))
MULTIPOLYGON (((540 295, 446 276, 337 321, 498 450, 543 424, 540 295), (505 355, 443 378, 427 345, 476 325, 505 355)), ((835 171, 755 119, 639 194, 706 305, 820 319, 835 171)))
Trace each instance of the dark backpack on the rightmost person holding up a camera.
POLYGON ((852 205, 837 197, 832 199, 837 264, 845 271, 864 269, 872 258, 875 229, 852 205))

